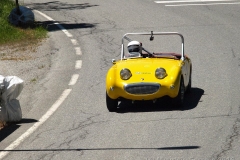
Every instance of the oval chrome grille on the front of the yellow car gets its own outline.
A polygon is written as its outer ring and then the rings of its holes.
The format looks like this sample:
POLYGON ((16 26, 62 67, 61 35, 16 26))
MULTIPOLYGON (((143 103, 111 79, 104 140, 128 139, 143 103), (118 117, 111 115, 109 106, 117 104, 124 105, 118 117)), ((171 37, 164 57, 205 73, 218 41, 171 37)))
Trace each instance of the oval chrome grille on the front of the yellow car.
POLYGON ((160 88, 160 84, 155 83, 136 83, 125 86, 125 91, 130 94, 153 94, 160 88))

